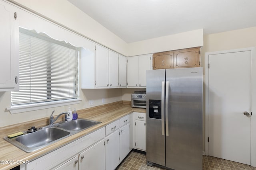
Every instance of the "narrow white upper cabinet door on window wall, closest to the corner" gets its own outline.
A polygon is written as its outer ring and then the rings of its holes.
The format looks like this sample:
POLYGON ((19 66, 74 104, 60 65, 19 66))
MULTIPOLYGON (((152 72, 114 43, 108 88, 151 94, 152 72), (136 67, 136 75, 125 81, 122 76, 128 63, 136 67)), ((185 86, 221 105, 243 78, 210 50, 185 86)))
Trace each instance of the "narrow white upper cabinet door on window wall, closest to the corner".
POLYGON ((119 55, 118 56, 118 68, 119 68, 119 74, 118 74, 118 84, 119 87, 126 87, 126 57, 119 55))

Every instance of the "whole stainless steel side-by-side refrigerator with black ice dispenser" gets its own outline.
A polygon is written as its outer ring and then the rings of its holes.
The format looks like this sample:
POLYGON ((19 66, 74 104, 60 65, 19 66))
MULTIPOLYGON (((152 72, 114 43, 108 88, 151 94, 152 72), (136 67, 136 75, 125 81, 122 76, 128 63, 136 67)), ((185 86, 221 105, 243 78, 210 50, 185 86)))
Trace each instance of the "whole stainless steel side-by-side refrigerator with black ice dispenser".
POLYGON ((202 170, 203 69, 147 70, 147 164, 202 170))

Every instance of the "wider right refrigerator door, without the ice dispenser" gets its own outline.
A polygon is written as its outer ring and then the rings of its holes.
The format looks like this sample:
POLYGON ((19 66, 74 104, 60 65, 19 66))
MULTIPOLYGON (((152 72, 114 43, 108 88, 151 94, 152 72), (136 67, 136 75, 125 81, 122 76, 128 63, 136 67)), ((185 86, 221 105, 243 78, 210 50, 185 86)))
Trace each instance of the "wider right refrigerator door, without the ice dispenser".
POLYGON ((202 67, 166 70, 167 168, 202 170, 202 71, 202 67))

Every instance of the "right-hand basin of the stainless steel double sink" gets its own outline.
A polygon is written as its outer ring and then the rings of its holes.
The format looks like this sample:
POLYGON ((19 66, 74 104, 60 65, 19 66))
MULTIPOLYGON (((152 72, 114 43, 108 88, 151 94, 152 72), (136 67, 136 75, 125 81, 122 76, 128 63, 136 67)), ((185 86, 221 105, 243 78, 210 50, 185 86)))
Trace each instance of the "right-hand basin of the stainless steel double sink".
POLYGON ((72 121, 67 121, 65 123, 61 123, 57 127, 60 127, 62 129, 66 129, 69 131, 82 131, 82 130, 92 127, 98 123, 101 123, 101 122, 87 120, 87 119, 77 119, 77 120, 72 120, 72 121))

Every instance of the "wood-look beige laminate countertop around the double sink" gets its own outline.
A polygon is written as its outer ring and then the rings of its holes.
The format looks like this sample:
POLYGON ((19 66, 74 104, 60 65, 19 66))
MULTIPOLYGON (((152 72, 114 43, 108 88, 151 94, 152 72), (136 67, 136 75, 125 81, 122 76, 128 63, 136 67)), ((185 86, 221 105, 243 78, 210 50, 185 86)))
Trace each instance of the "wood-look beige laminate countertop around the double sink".
MULTIPOLYGON (((129 102, 128 102, 129 103, 129 102)), ((49 118, 43 118, 38 119, 34 121, 29 121, 25 123, 19 123, 16 125, 10 125, 7 127, 2 127, 0 129, 0 170, 9 170, 11 168, 14 168, 15 166, 18 166, 19 164, 10 164, 9 162, 22 162, 20 160, 34 160, 40 156, 43 156, 44 154, 51 152, 55 149, 58 149, 59 147, 62 147, 76 139, 79 139, 80 137, 83 137, 96 129, 99 129, 101 127, 104 127, 105 125, 111 123, 112 121, 115 121, 119 119, 120 117, 123 117, 125 115, 128 115, 132 112, 142 112, 146 113, 146 109, 140 109, 140 108, 133 108, 131 105, 127 104, 127 102, 114 102, 111 104, 91 107, 87 109, 78 110, 78 118, 84 118, 84 119, 90 119, 94 121, 101 121, 102 123, 97 124, 93 127, 90 127, 84 131, 81 131, 79 133, 76 133, 72 136, 66 137, 65 139, 62 139, 52 145, 49 145, 43 149, 36 150, 34 152, 24 152, 23 150, 18 149, 14 145, 8 143, 3 139, 3 137, 6 137, 9 134, 16 133, 19 131, 27 131, 32 126, 38 127, 44 127, 48 125, 49 118), (5 161, 5 162, 3 162, 5 161), (5 164, 6 163, 6 164, 5 164)), ((61 120, 61 119, 60 119, 61 120)))

